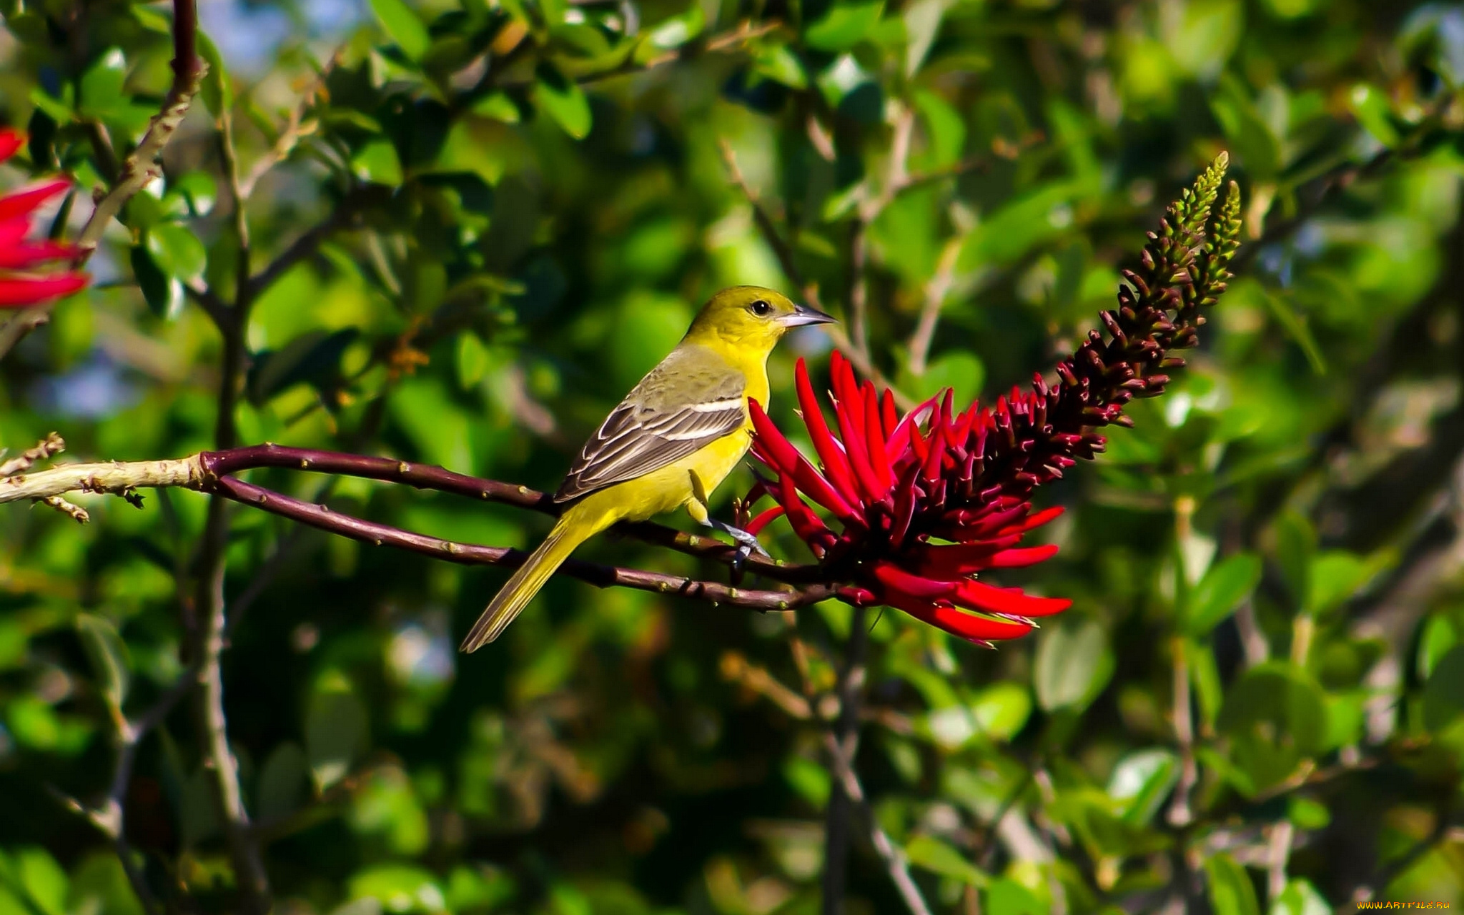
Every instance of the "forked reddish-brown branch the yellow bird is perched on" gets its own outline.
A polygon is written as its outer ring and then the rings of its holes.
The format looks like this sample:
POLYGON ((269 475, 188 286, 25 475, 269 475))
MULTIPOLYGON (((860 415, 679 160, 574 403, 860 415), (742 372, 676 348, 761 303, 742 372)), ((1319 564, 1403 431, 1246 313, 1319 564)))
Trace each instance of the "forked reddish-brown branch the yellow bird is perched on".
MULTIPOLYGON (((177 460, 113 461, 54 467, 40 473, 0 480, 0 504, 44 499, 66 492, 132 493, 142 488, 179 488, 215 493, 221 498, 252 505, 328 533, 376 546, 394 546, 433 559, 463 565, 502 565, 505 568, 517 568, 524 561, 524 553, 520 550, 457 543, 404 531, 386 524, 334 512, 324 505, 293 499, 231 476, 243 470, 262 467, 288 467, 388 483, 406 483, 417 489, 499 502, 543 514, 558 512, 553 499, 527 486, 470 477, 444 470, 442 467, 411 464, 392 458, 309 448, 284 448, 269 444, 227 451, 205 451, 177 460)), ((621 524, 618 530, 647 543, 717 562, 731 564, 736 555, 735 548, 719 540, 685 534, 660 524, 621 524)), ((713 605, 726 603, 755 610, 793 609, 826 600, 834 594, 834 587, 821 580, 821 571, 817 567, 750 558, 745 569, 774 581, 798 584, 801 587, 796 590, 738 589, 714 581, 698 581, 681 575, 646 572, 577 559, 571 559, 562 567, 567 575, 580 578, 596 587, 616 586, 660 594, 673 593, 713 605)))

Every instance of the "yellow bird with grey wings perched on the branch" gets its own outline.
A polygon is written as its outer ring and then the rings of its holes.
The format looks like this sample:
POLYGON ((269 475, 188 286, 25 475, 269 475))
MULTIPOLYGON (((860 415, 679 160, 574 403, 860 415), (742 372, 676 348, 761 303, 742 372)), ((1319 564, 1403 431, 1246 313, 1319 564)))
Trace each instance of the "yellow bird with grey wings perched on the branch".
POLYGON ((832 321, 758 285, 733 285, 707 300, 676 348, 580 449, 553 496, 565 507, 559 520, 477 618, 461 650, 498 638, 580 543, 618 521, 685 507, 692 520, 735 539, 739 558, 767 555, 757 537, 713 518, 707 496, 752 444, 748 401, 767 407, 769 353, 789 329, 832 321))

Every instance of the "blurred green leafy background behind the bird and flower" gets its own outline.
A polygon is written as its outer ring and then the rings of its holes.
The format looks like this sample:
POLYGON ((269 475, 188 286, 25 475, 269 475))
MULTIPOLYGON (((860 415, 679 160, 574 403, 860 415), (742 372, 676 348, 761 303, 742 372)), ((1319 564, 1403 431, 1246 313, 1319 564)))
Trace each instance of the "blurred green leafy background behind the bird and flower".
MULTIPOLYGON (((170 85, 170 9, 3 12, 0 120, 31 133, 7 186, 108 184, 170 85)), ((552 488, 706 296, 793 290, 722 142, 823 303, 848 319, 867 290, 884 378, 990 397, 1072 350, 1228 149, 1246 246, 1202 348, 1051 488, 1061 552, 1009 578, 1076 606, 997 651, 883 613, 856 769, 934 911, 1464 902, 1458 4, 201 13, 211 72, 165 180, 113 225, 95 288, 0 363, 12 449, 53 429, 89 460, 277 441, 552 488), (244 318, 233 338, 220 302, 244 318), (231 347, 243 395, 220 410, 231 347)), ((774 354, 785 427, 793 359, 829 347, 810 331, 774 354)), ((545 531, 256 479, 460 540, 545 531)), ((750 482, 717 492, 723 517, 750 482)), ((145 496, 83 498, 86 527, 0 512, 0 912, 143 911, 66 798, 107 793, 113 712, 145 714, 196 638, 206 499, 145 496)), ((243 509, 227 533, 227 735, 278 911, 818 908, 817 719, 848 608, 556 580, 466 657, 502 572, 243 509), (789 700, 791 631, 813 719, 789 700)), ((610 537, 584 555, 697 568, 610 537)), ((192 704, 139 744, 124 855, 168 911, 247 911, 192 704)), ((900 911, 862 834, 849 880, 851 912, 900 911)))

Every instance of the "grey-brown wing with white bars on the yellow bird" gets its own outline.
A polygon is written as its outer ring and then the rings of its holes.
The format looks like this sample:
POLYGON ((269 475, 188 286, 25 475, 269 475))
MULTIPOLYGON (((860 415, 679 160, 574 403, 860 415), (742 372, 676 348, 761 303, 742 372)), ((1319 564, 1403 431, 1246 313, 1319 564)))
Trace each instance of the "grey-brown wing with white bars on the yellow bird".
POLYGON ((747 379, 697 350, 672 351, 610 410, 580 449, 555 502, 646 476, 742 427, 747 379))

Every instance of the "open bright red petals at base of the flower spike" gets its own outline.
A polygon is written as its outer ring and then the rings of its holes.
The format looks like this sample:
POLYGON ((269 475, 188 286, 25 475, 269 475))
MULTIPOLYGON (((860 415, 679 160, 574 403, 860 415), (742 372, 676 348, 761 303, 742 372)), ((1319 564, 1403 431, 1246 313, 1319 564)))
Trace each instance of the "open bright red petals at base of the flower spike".
MULTIPOLYGON (((839 590, 840 599, 893 606, 969 641, 1016 638, 1032 631, 1034 616, 1066 610, 1070 600, 976 580, 978 572, 1034 565, 1057 552, 1019 543, 1061 508, 1032 512, 1023 496, 978 489, 987 442, 1000 432, 997 414, 972 404, 952 416, 947 389, 900 417, 893 395, 878 395, 868 381, 861 385, 839 353, 832 369, 837 433, 798 360, 798 403, 821 473, 752 403, 754 454, 777 474, 761 488, 777 507, 752 518, 748 531, 788 517, 814 556, 852 581, 839 590), (834 533, 799 493, 842 530, 834 533)), ((1006 414, 1006 401, 997 410, 1006 414)))

